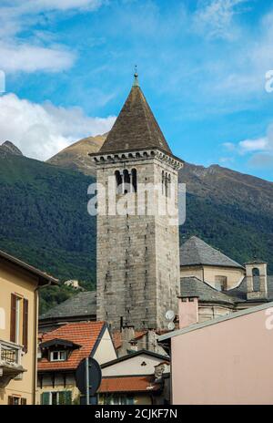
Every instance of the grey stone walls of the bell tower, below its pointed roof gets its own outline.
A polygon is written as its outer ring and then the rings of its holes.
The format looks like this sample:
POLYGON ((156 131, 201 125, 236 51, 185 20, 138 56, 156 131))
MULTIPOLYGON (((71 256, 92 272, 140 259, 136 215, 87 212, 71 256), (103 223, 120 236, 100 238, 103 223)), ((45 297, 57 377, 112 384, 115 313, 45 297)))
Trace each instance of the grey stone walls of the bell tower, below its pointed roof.
MULTIPOLYGON (((109 176, 124 169, 136 169, 138 184, 160 184, 162 170, 177 184, 177 170, 159 157, 99 161, 96 168, 96 181, 105 187, 109 176)), ((117 196, 117 200, 139 201, 147 211, 148 201, 157 209, 162 197, 162 192, 154 191, 141 200, 137 191, 117 196)), ((102 203, 101 194, 99 199, 102 203)), ((106 211, 110 206, 106 202, 106 211)), ((123 325, 136 329, 163 329, 166 311, 177 313, 178 226, 169 224, 169 216, 159 214, 109 216, 99 212, 97 216, 97 319, 106 320, 114 329, 119 328, 121 317, 123 325)))

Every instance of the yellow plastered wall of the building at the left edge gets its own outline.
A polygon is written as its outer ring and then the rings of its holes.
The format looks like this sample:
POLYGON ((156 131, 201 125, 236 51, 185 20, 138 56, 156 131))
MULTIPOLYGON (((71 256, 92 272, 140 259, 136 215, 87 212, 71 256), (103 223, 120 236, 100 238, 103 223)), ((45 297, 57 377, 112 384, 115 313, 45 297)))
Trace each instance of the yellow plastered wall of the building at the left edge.
POLYGON ((30 278, 24 271, 10 269, 1 263, 0 268, 0 309, 2 324, 0 339, 10 341, 11 294, 17 294, 28 300, 28 349, 22 356, 22 366, 26 372, 21 380, 11 380, 5 388, 0 388, 0 405, 7 404, 8 396, 24 397, 26 404, 34 402, 35 377, 35 288, 37 281, 30 278), (4 318, 3 318, 4 317, 4 318))

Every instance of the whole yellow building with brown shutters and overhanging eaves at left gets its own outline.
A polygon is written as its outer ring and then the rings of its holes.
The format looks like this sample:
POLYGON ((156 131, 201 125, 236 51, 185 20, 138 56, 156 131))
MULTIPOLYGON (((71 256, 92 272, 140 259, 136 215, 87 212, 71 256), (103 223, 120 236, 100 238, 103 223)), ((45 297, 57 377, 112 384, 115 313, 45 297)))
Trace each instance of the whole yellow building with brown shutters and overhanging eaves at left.
POLYGON ((0 405, 34 405, 39 290, 58 281, 0 251, 0 405))

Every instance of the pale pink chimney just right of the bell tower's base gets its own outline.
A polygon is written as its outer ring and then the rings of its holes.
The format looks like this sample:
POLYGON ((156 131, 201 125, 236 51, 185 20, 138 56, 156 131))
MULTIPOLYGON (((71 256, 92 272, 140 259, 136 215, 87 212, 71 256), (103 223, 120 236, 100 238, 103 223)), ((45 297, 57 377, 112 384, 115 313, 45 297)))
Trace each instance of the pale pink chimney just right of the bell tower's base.
POLYGON ((180 296, 178 303, 179 329, 198 323, 198 297, 180 296))

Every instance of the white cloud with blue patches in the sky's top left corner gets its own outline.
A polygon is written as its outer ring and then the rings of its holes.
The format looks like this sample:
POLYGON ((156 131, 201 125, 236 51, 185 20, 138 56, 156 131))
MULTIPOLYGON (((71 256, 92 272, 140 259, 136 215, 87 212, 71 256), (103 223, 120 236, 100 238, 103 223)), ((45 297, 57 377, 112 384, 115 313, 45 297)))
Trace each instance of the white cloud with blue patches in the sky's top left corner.
POLYGON ((57 72, 72 67, 76 55, 64 46, 50 44, 50 36, 35 41, 20 38, 23 30, 30 30, 44 13, 65 13, 74 10, 93 11, 104 0, 13 0, 0 5, 0 69, 5 72, 57 72), (49 41, 48 41, 49 40, 49 41), (39 44, 38 44, 39 43, 39 44))

